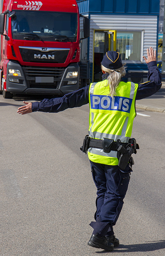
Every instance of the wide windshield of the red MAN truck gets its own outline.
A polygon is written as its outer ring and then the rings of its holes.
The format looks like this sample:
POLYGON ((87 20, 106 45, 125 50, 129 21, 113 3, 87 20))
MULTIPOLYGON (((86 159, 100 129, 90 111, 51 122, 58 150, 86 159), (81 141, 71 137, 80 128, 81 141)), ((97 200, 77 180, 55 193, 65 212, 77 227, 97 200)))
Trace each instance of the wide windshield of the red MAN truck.
POLYGON ((13 39, 63 42, 77 40, 77 13, 29 10, 15 12, 12 17, 13 39))

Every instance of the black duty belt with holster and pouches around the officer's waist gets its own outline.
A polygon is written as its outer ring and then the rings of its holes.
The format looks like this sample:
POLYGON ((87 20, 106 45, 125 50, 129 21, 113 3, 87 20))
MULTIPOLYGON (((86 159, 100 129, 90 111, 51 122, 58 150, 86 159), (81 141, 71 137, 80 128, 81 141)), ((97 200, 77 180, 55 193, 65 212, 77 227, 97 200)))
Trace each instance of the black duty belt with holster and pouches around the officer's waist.
POLYGON ((130 163, 131 167, 134 164, 134 160, 131 155, 133 153, 137 154, 139 145, 134 138, 130 138, 128 143, 123 143, 120 141, 120 139, 117 141, 107 138, 93 139, 90 138, 89 135, 86 135, 80 150, 87 154, 87 150, 89 148, 103 149, 105 153, 118 151, 120 153, 118 166, 124 170, 127 166, 127 163, 130 163))

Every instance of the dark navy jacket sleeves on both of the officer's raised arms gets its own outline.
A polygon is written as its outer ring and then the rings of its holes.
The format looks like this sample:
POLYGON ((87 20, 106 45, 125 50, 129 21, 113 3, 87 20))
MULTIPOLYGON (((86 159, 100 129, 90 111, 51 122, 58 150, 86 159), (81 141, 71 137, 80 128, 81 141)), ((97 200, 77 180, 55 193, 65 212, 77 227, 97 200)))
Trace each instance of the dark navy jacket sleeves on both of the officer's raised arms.
MULTIPOLYGON (((136 100, 141 100, 153 95, 161 87, 161 76, 156 61, 151 61, 147 65, 148 82, 139 84, 136 100)), ((87 103, 89 103, 89 85, 68 93, 63 97, 33 102, 32 111, 60 112, 67 108, 81 107, 87 103)))

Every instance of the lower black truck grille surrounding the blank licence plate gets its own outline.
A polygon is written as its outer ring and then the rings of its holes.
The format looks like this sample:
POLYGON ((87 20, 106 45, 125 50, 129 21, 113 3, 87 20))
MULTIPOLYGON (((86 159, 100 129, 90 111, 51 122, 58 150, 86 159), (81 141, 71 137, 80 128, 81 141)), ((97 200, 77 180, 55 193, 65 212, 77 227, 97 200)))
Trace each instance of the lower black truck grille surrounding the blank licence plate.
POLYGON ((65 68, 22 66, 29 88, 56 89, 65 68), (35 77, 54 77, 54 83, 35 83, 35 77))

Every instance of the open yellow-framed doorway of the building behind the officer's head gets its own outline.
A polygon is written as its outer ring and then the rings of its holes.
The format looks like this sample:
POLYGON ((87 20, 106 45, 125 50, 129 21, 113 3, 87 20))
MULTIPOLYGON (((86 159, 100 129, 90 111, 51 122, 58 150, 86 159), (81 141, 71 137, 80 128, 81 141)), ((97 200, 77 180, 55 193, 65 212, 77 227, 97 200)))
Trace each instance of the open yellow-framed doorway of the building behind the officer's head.
POLYGON ((107 51, 116 51, 116 30, 94 30, 94 82, 101 81, 101 61, 107 51))

